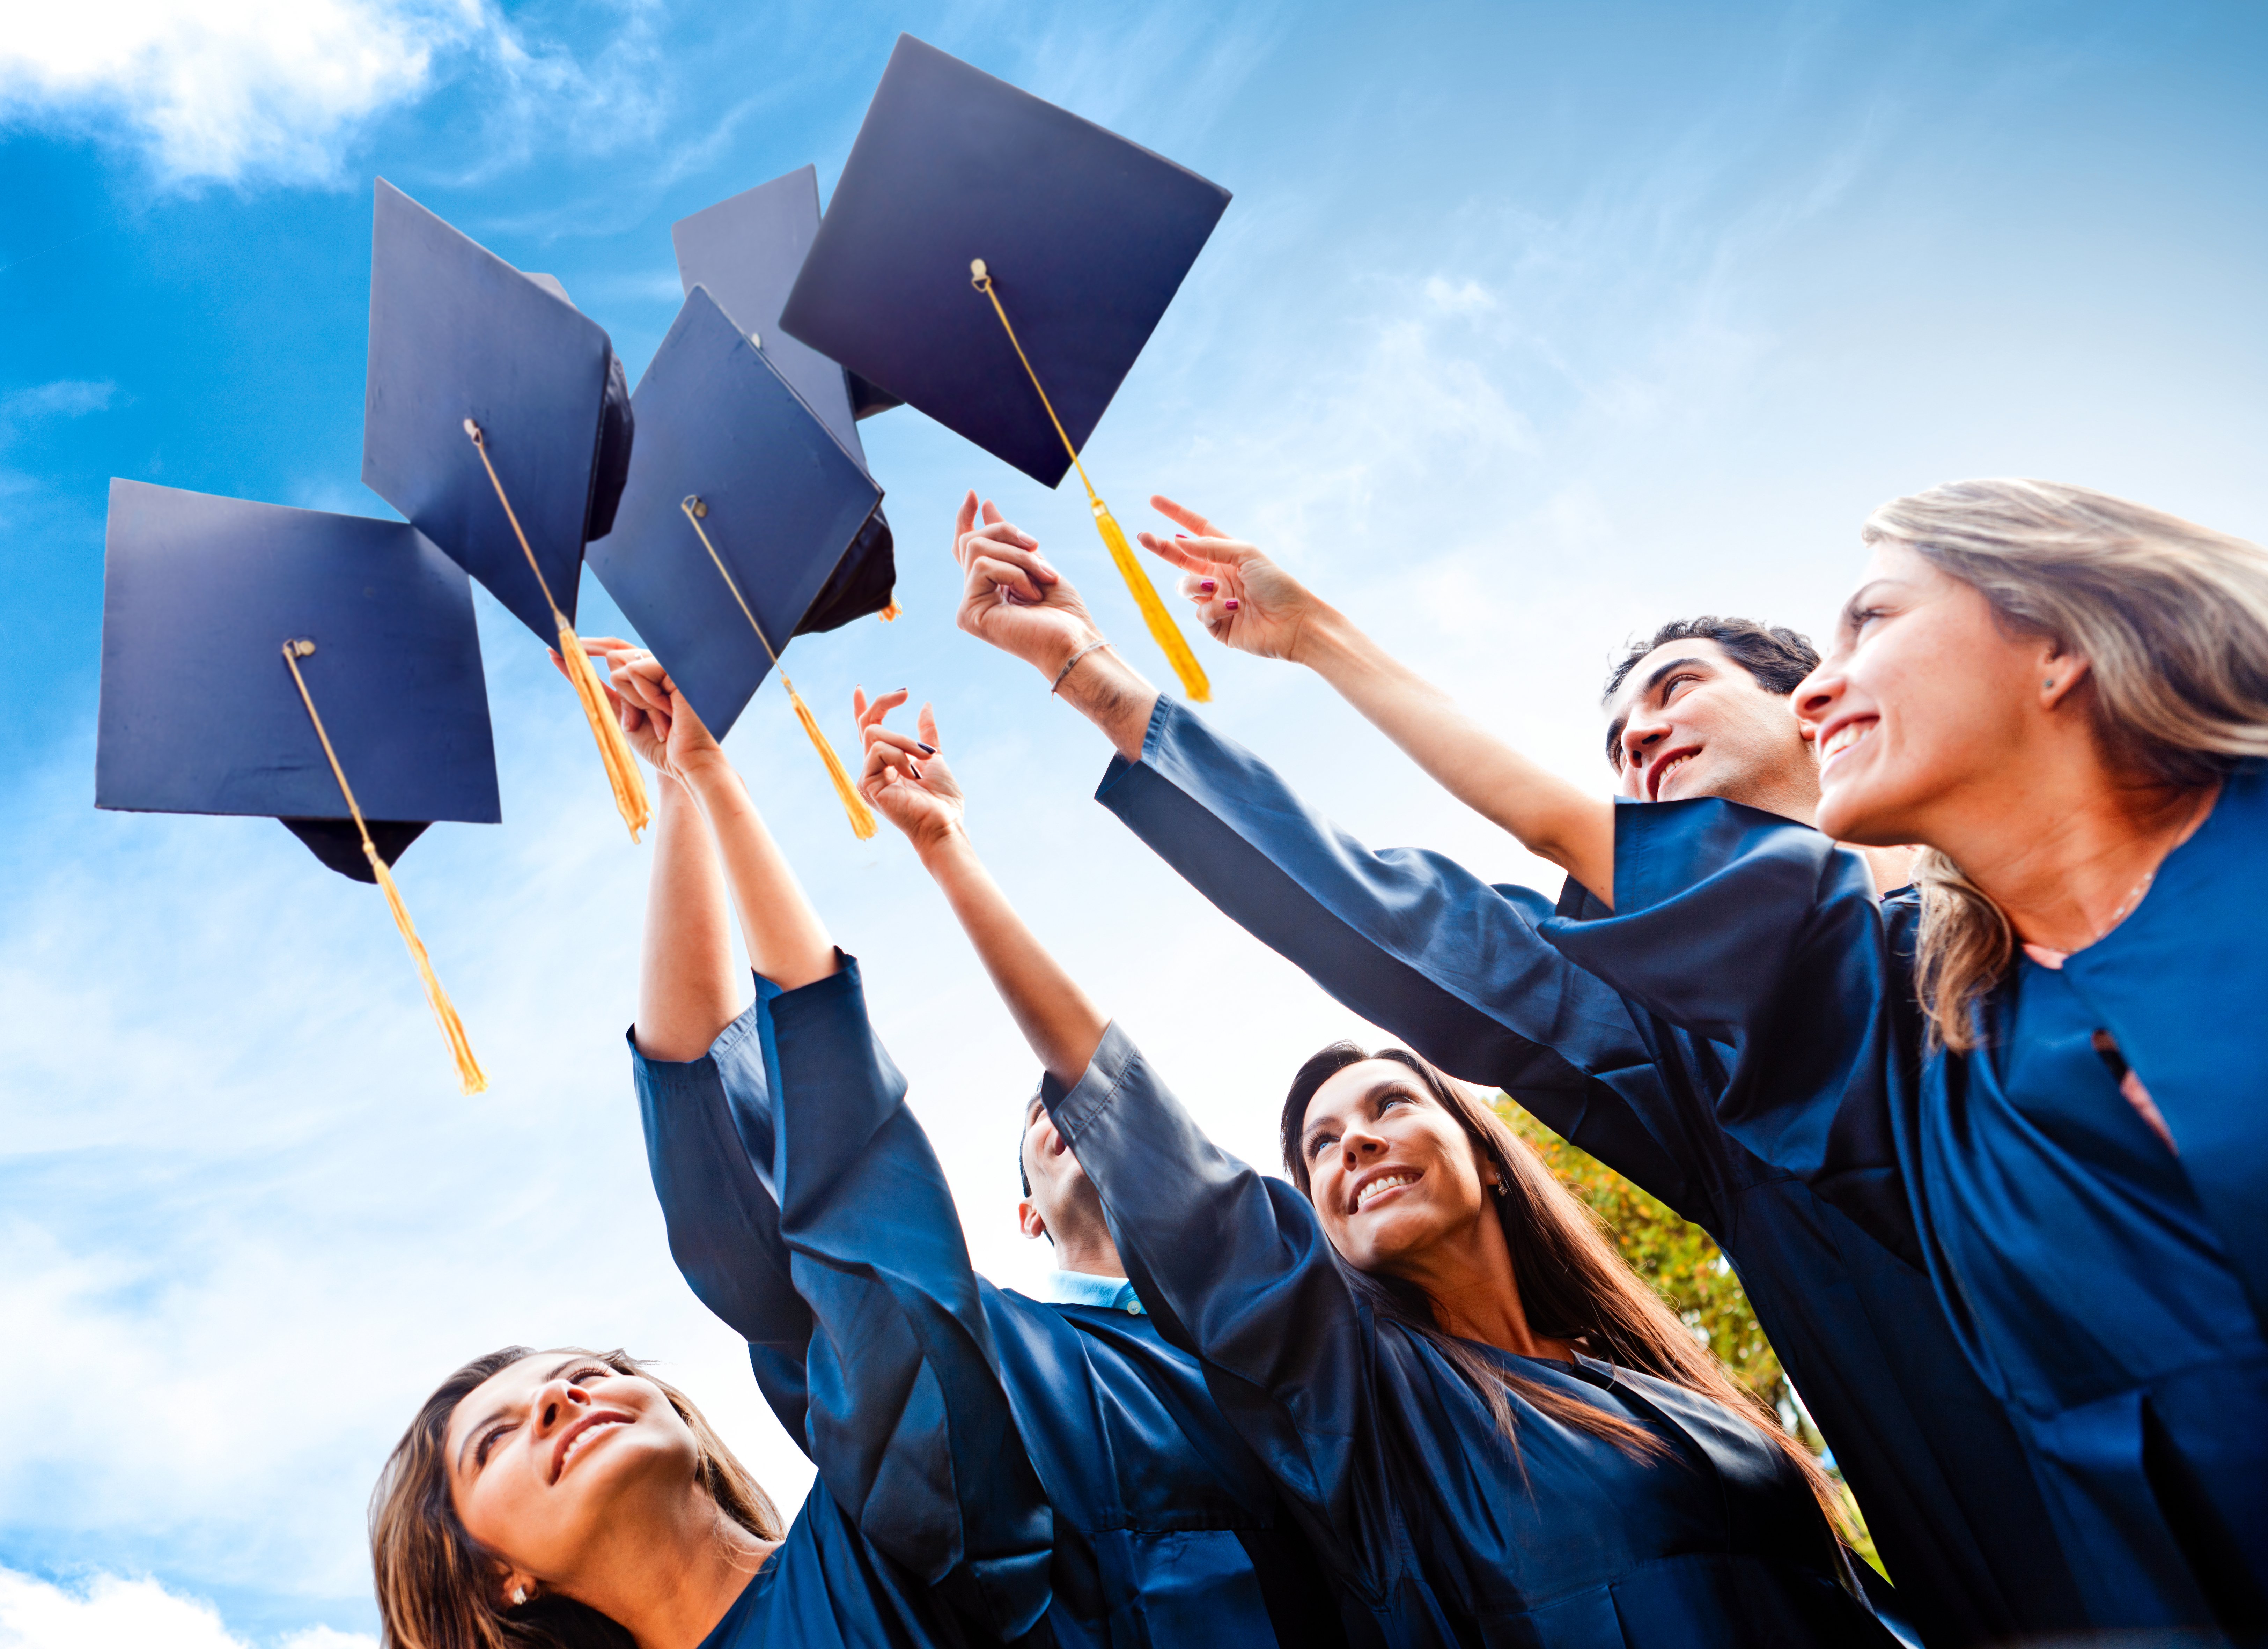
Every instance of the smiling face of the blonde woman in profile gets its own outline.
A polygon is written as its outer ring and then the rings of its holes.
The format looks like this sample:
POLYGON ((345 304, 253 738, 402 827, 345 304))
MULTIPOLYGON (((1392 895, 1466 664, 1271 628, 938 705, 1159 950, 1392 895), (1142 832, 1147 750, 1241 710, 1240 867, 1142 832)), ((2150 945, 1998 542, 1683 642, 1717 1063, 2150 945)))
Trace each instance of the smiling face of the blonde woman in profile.
POLYGON ((1819 828, 1837 842, 1939 842, 1944 821, 2023 771, 2048 703, 2084 669, 1903 544, 1878 544, 1796 714, 1819 744, 1819 828))

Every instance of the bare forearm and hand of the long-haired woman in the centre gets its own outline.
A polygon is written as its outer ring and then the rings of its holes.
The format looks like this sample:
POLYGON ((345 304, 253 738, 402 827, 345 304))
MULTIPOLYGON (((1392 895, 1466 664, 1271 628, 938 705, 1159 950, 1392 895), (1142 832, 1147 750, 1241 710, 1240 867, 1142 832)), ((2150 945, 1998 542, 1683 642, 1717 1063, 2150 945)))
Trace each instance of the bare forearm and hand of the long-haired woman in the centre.
POLYGON ((921 737, 882 726, 882 717, 905 699, 905 692, 882 694, 873 703, 866 703, 864 692, 853 699, 866 746, 860 789, 914 844, 1039 1064, 1070 1086, 1102 1046, 1109 1018, 1039 944, 1039 935, 1007 903, 978 857, 962 826, 962 787, 953 783, 953 769, 939 751, 930 705, 921 705, 921 737))

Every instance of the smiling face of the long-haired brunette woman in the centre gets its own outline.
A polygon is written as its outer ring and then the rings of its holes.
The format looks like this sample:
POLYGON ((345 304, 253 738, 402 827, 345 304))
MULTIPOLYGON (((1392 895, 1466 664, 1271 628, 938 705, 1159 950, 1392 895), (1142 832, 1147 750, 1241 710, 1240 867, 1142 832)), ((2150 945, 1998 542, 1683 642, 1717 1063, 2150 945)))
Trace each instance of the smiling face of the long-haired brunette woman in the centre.
POLYGON ((1356 1270, 1415 1277, 1495 1220, 1495 1164, 1417 1073, 1363 1059, 1306 1105, 1300 1152, 1331 1248, 1356 1270))

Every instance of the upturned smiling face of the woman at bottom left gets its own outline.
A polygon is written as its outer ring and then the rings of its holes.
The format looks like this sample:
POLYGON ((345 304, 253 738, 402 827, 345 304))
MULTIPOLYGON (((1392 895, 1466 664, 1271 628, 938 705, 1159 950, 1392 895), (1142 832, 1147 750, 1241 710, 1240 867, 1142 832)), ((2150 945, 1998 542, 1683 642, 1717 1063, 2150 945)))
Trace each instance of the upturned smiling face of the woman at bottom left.
POLYGON ((640 1527, 640 1502, 689 1490, 699 1445, 651 1379, 540 1352, 458 1402, 447 1468, 465 1533, 506 1570, 572 1595, 599 1542, 640 1527))

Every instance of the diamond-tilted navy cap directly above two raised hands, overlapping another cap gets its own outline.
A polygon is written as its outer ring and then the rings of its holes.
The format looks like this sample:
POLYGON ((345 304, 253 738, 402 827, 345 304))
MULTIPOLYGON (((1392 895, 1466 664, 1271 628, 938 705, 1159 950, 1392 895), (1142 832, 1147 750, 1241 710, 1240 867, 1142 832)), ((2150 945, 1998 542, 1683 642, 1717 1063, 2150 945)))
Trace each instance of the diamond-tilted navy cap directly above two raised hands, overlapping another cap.
MULTIPOLYGON (((708 288, 678 311, 637 381, 644 431, 615 533, 590 569, 723 737, 787 637, 880 513, 882 490, 708 288)), ((835 746, 780 669, 850 828, 875 832, 835 746)))

